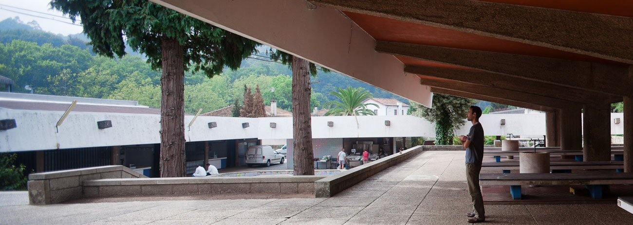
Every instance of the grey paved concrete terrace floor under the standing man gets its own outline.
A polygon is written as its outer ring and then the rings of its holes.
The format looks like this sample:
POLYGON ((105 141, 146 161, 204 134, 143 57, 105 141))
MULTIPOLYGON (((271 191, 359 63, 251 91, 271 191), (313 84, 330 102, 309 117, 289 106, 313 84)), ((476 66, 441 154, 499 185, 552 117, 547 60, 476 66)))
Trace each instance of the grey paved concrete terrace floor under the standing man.
MULTIPOLYGON (((0 193, 0 224, 467 224, 463 151, 423 152, 331 198, 146 197, 27 205, 0 193)), ((486 224, 631 224, 610 204, 486 205, 486 224)))

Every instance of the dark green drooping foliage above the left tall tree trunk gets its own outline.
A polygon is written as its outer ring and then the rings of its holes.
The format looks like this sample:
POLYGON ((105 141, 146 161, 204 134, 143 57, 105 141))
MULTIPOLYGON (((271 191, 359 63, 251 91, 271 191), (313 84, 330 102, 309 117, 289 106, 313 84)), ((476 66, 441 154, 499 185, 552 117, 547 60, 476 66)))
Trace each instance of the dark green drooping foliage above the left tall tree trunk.
POLYGON ((127 42, 134 51, 145 54, 154 69, 162 66, 163 39, 178 40, 183 47, 185 70, 203 71, 210 78, 220 74, 224 66, 239 68, 242 59, 259 45, 149 1, 53 0, 51 6, 73 21, 81 19, 97 54, 121 57, 126 54, 127 42))

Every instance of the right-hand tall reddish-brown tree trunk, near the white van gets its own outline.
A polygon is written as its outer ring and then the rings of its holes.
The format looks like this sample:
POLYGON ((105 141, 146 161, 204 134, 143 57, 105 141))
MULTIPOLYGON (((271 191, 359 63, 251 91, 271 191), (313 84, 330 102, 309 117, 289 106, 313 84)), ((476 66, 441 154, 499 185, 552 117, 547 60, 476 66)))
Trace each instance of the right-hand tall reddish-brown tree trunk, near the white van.
POLYGON ((292 57, 292 141, 294 175, 314 175, 310 116, 310 66, 292 57))

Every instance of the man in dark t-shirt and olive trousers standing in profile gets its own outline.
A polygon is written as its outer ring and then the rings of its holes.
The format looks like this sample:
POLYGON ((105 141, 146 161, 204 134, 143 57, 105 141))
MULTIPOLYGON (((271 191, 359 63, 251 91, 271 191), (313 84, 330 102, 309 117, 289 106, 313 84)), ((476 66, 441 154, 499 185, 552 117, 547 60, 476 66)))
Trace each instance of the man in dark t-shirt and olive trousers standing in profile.
POLYGON ((460 136, 460 141, 466 149, 466 180, 468 181, 468 193, 473 202, 472 212, 466 214, 468 222, 484 222, 486 212, 484 212, 484 198, 481 195, 479 186, 479 171, 481 162, 484 160, 484 128, 479 123, 481 108, 470 106, 466 118, 472 122, 468 137, 460 136))

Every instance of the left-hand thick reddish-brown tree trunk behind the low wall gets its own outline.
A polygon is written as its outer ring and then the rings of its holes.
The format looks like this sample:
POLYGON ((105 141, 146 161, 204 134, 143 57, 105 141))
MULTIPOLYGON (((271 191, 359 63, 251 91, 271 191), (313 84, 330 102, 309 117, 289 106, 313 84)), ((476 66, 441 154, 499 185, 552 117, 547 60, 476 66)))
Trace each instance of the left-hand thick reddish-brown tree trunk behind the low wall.
POLYGON ((182 46, 176 39, 161 38, 160 176, 185 176, 184 67, 182 46))

